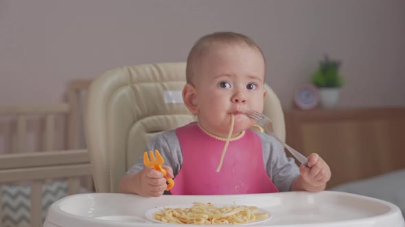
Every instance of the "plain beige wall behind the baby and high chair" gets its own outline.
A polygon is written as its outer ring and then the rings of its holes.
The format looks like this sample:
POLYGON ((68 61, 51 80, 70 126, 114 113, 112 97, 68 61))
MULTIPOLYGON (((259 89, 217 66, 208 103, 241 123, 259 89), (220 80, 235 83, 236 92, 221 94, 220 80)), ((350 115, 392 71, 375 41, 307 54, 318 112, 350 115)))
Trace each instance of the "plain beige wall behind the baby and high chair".
POLYGON ((285 108, 323 53, 343 61, 340 107, 405 105, 404 0, 0 0, 0 105, 58 103, 71 79, 184 61, 220 30, 262 46, 285 108))

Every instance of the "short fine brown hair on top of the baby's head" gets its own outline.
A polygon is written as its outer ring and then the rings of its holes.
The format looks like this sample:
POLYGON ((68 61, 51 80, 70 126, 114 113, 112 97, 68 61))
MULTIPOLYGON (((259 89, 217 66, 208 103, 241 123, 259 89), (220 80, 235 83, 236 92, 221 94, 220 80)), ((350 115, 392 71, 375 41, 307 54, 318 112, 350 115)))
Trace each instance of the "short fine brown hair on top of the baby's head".
POLYGON ((249 47, 256 49, 264 59, 264 54, 262 49, 248 36, 244 34, 239 34, 231 31, 220 31, 213 34, 208 34, 197 40, 196 44, 192 47, 189 55, 187 57, 186 66, 186 81, 187 83, 193 83, 194 71, 193 68, 203 57, 205 52, 209 49, 211 44, 221 43, 221 44, 246 44, 249 47))

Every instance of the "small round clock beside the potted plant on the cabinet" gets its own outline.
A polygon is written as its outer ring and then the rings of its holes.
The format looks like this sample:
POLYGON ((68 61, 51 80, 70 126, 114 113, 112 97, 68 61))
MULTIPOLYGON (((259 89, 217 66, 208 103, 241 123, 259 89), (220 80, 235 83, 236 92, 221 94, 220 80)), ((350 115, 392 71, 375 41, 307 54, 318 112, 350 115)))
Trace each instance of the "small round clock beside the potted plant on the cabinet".
POLYGON ((299 109, 315 109, 319 105, 318 88, 310 83, 301 85, 294 94, 294 103, 299 109))

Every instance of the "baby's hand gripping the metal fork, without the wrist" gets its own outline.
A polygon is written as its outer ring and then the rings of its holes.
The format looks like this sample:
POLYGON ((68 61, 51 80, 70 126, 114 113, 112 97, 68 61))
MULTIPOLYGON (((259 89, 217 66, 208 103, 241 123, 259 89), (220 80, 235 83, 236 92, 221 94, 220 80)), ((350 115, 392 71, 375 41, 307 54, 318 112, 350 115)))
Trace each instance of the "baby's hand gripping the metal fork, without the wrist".
MULTIPOLYGON (((329 165, 315 153, 308 157, 308 167, 301 165, 299 172, 303 180, 312 185, 314 189, 322 187, 325 189, 326 183, 331 176, 329 165)), ((318 190, 315 189, 314 191, 318 190)))

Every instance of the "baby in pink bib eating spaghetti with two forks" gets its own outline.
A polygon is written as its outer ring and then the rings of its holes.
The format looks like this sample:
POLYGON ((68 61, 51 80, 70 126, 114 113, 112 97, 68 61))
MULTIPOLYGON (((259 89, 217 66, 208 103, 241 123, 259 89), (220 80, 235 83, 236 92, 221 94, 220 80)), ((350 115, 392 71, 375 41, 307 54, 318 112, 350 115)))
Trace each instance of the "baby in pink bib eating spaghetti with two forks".
MULTIPOLYGON (((187 57, 183 101, 198 122, 153 137, 148 150, 159 150, 174 177, 172 194, 218 195, 277 191, 321 191, 331 176, 319 155, 298 167, 274 137, 252 131, 244 116, 263 111, 265 60, 259 46, 242 34, 217 32, 200 38, 187 57), (233 123, 233 129, 229 127, 233 123), (217 172, 222 150, 232 131, 217 172)), ((119 183, 122 193, 161 196, 163 174, 145 168, 143 159, 119 183)))

